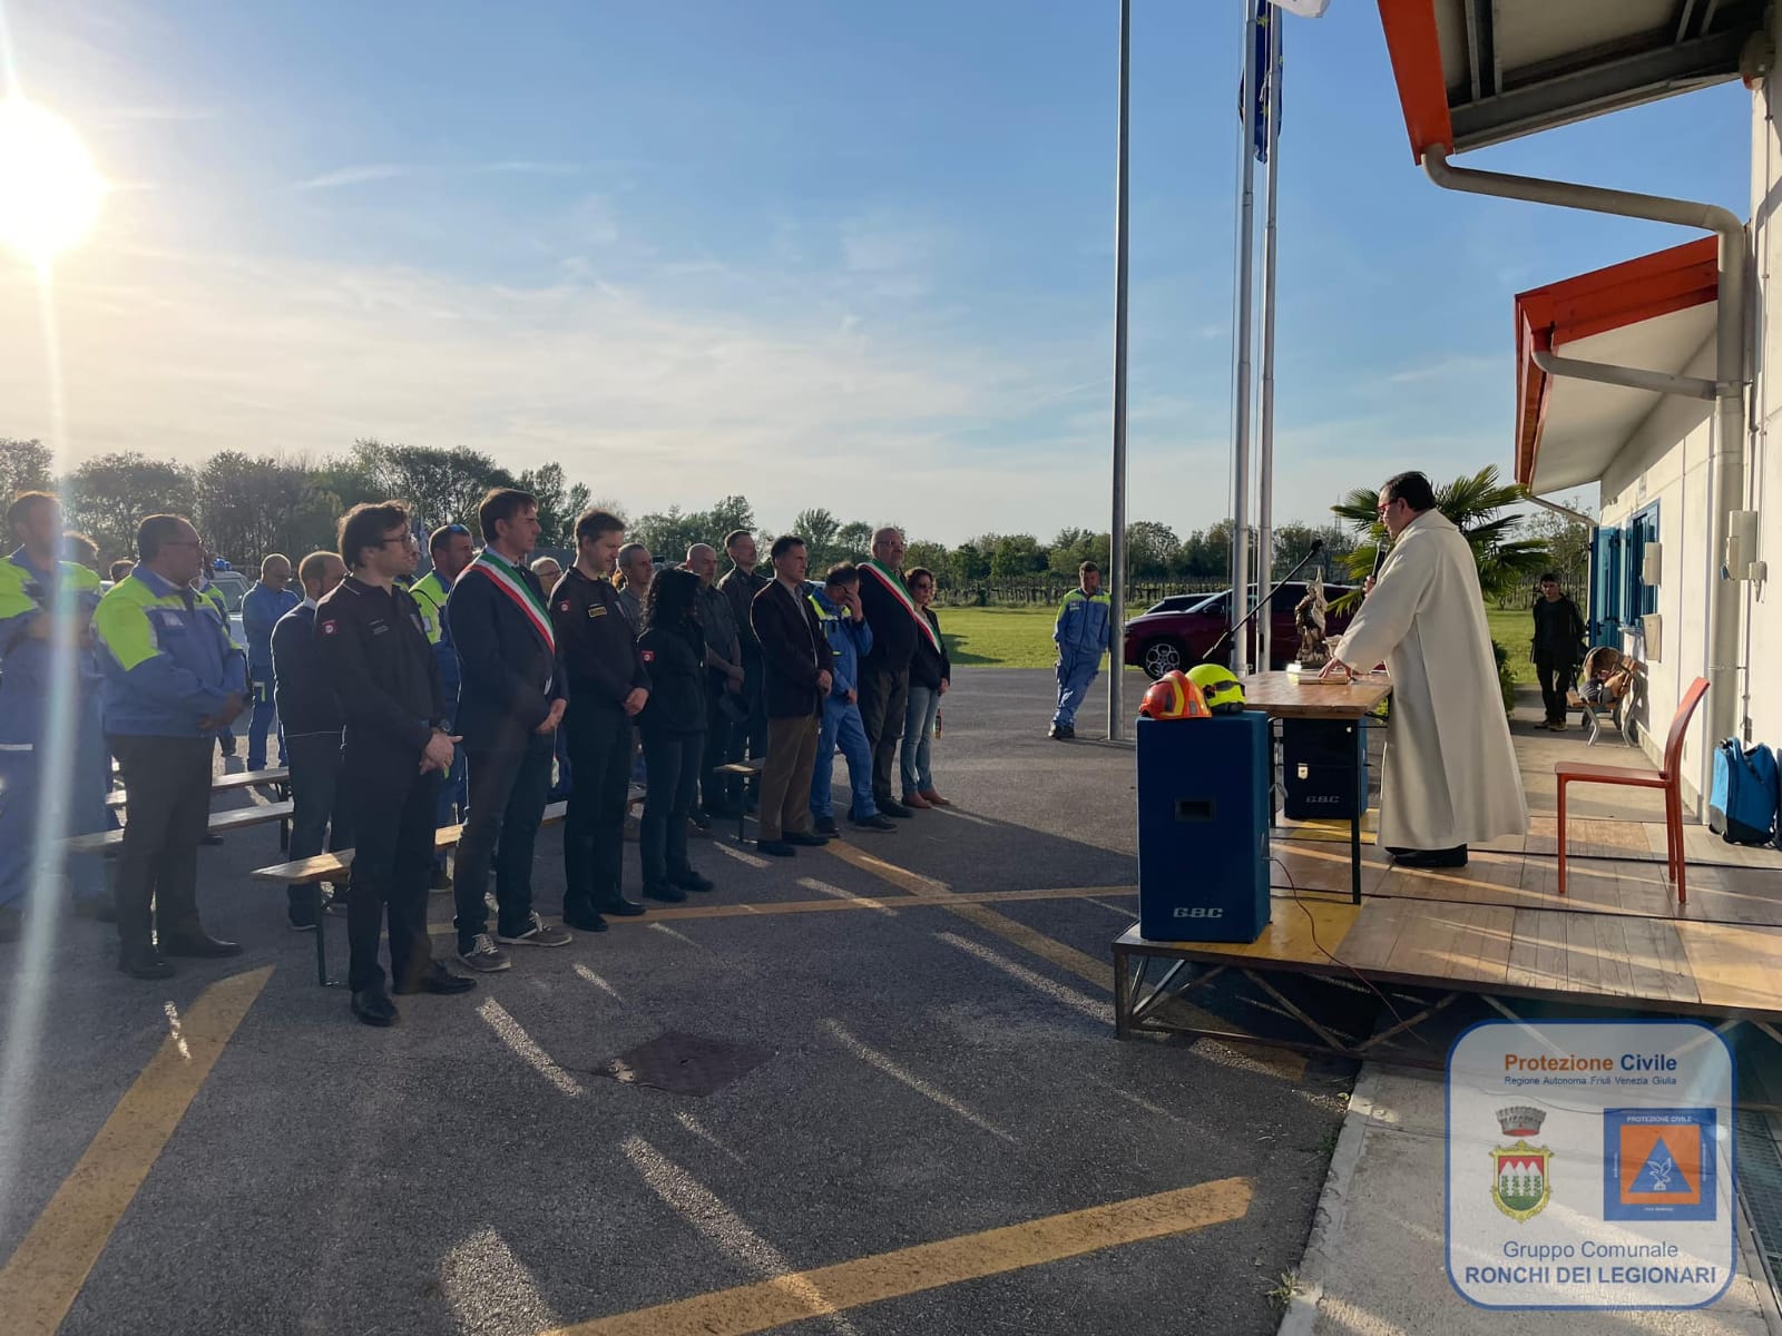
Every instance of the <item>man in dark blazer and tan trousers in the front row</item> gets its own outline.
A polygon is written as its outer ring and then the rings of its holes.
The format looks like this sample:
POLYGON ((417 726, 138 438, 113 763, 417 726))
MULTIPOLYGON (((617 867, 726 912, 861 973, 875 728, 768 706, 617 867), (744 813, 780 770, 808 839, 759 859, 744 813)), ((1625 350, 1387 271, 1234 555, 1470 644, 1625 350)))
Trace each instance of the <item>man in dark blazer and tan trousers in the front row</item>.
POLYGON ((756 595, 748 616, 766 663, 768 759, 761 770, 757 846, 779 859, 793 844, 829 841, 811 830, 811 771, 830 688, 829 638, 804 591, 804 540, 773 540, 773 582, 756 595))

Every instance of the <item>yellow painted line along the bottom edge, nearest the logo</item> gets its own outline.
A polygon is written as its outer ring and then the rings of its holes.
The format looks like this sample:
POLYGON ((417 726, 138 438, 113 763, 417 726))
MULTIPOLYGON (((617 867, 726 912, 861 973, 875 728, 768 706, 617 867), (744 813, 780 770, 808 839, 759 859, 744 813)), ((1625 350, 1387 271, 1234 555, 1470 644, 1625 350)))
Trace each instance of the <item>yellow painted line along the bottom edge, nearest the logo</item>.
POLYGON ((1249 1179, 1217 1179, 592 1318, 547 1336, 748 1336, 985 1275, 1242 1220, 1251 1192, 1249 1179))

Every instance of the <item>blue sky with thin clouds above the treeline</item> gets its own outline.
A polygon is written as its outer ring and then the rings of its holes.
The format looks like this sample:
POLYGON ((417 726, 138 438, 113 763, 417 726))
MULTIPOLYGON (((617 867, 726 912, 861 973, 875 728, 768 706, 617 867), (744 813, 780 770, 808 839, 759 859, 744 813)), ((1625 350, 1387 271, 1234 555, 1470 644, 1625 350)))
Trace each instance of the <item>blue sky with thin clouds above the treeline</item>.
MULTIPOLYGON (((560 460, 957 542, 1105 525, 1114 0, 0 0, 118 187, 68 451, 560 460)), ((1135 0, 1132 508, 1230 509, 1237 0, 1135 0)), ((1693 233, 1451 196, 1376 5, 1287 23, 1278 518, 1509 467, 1511 296, 1693 233)), ((1461 159, 1748 212, 1737 86, 1461 159)), ((0 435, 50 436, 0 260, 0 435)))

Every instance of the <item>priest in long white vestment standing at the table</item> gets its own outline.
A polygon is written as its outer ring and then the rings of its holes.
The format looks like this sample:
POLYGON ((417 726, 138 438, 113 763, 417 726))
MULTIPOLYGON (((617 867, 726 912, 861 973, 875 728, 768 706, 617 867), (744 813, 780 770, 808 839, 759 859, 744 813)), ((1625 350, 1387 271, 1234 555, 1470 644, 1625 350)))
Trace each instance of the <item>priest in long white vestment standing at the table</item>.
POLYGON ((1379 490, 1392 552, 1322 677, 1392 675, 1379 844, 1411 868, 1463 868, 1467 846, 1529 827, 1472 547, 1422 474, 1379 490))

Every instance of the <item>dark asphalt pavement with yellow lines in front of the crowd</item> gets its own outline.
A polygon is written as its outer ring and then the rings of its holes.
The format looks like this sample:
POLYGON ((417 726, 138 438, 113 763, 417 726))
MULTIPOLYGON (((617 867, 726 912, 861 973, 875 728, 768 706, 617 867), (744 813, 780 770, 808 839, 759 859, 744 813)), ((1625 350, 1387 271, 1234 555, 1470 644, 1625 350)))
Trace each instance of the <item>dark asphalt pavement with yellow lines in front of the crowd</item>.
MULTIPOLYGON (((274 827, 201 851, 241 958, 139 983, 71 917, 41 974, 0 948, 9 1015, 45 989, 4 1051, 29 1085, 0 1307, 68 1336, 1272 1332, 1353 1069, 1114 1040, 1137 901, 1105 684, 1057 743, 1050 672, 962 670, 934 745, 955 809, 791 860, 720 823, 693 844, 716 892, 513 948, 388 1031, 248 880, 274 827)), ((556 830, 535 887, 552 914, 556 830)))

